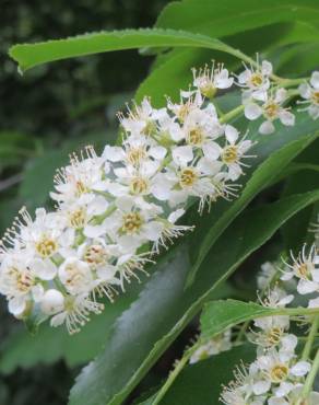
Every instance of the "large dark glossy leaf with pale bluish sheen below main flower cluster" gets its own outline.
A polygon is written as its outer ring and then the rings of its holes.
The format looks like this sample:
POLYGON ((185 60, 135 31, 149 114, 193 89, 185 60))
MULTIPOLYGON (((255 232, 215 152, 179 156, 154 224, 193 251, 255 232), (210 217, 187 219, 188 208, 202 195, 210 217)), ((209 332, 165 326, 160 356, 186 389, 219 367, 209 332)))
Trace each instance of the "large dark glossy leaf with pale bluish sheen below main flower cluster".
POLYGON ((122 404, 210 293, 288 218, 318 199, 319 192, 296 195, 240 215, 211 248, 188 290, 192 244, 185 239, 154 265, 140 296, 115 323, 104 352, 78 378, 69 404, 122 404))

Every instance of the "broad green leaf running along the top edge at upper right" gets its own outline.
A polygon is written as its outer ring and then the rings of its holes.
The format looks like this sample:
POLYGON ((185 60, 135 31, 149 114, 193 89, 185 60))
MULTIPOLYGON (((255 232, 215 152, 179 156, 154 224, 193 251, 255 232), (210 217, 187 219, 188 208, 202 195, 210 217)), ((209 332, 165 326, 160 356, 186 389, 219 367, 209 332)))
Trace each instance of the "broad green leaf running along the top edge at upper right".
POLYGON ((218 38, 273 23, 296 22, 307 35, 310 31, 315 37, 318 21, 316 0, 184 0, 168 4, 156 26, 192 32, 205 30, 206 34, 218 38))

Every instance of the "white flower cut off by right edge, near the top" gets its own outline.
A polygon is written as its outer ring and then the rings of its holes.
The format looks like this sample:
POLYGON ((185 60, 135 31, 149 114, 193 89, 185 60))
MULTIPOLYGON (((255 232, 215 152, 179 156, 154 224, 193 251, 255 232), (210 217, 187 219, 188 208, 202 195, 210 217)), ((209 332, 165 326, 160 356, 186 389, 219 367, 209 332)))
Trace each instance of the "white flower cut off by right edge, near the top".
POLYGON ((312 72, 310 83, 299 85, 299 93, 305 99, 299 104, 306 105, 302 111, 308 111, 314 119, 319 118, 319 71, 312 72))

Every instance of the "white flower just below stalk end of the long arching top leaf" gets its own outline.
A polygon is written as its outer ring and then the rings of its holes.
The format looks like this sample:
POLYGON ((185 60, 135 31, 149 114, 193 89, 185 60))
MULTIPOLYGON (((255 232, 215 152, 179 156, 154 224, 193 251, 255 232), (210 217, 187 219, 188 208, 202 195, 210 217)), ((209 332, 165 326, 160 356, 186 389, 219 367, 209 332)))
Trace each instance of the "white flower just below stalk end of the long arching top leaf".
POLYGON ((270 76, 272 74, 272 65, 263 60, 261 66, 257 58, 258 67, 245 66, 245 70, 238 76, 238 85, 244 89, 243 97, 255 99, 258 101, 267 100, 267 91, 270 88, 270 76))

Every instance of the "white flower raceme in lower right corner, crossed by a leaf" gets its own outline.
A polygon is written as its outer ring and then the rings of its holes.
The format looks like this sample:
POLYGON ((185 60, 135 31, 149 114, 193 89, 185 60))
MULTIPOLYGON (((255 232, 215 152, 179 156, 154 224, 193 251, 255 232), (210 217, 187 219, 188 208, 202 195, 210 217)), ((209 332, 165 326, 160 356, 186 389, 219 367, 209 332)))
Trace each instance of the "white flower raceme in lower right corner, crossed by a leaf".
POLYGON ((223 387, 220 398, 223 404, 319 404, 319 392, 312 387, 319 370, 319 351, 311 360, 319 312, 302 314, 307 309, 319 309, 318 225, 315 231, 312 245, 305 244, 296 255, 291 252, 288 258, 261 266, 257 278, 259 302, 268 309, 283 310, 283 314, 257 317, 249 329, 249 323, 245 323, 203 344, 199 339, 193 350, 189 349, 192 363, 240 346, 247 337, 256 346, 256 360, 248 366, 238 364, 234 380, 223 387), (287 305, 295 308, 293 316, 285 313, 287 305))

